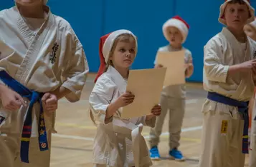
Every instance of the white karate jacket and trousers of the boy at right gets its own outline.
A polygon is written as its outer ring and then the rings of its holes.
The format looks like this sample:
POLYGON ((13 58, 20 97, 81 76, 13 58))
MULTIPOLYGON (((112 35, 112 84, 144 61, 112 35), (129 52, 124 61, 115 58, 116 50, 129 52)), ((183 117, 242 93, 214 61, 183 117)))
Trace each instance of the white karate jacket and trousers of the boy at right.
MULTIPOLYGON (((253 59, 256 44, 250 38, 241 44, 227 29, 210 39, 204 47, 204 89, 237 101, 252 98, 252 73, 227 75, 229 66, 253 59)), ((202 131, 200 167, 243 167, 244 121, 235 106, 206 99, 202 131)))

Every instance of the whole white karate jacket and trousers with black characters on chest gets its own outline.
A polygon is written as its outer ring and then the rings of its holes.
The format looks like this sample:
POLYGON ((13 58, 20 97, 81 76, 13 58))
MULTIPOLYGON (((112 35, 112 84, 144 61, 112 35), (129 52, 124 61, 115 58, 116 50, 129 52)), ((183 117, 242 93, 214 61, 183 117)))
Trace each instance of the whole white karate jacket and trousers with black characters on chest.
MULTIPOLYGON (((0 71, 6 71, 27 88, 42 93, 64 86, 71 91, 66 98, 71 102, 78 101, 89 70, 82 44, 65 19, 53 15, 47 6, 44 8, 44 19, 23 18, 16 6, 0 11, 0 41, 4 42, 0 44, 0 71)), ((0 116, 6 117, 0 125, 1 167, 49 166, 50 151, 39 151, 39 103, 35 103, 32 111, 30 163, 20 161, 26 113, 24 106, 18 111, 6 111, 0 101, 0 116)), ((51 116, 44 114, 44 119, 50 146, 55 113, 51 116)))

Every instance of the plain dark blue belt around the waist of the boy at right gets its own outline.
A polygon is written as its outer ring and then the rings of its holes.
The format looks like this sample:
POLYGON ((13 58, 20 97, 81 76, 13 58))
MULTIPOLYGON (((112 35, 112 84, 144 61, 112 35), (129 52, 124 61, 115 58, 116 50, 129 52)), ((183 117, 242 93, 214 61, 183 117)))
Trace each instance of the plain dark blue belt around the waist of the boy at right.
POLYGON ((249 115, 248 115, 248 104, 249 101, 237 101, 226 96, 222 96, 218 93, 208 92, 207 98, 211 101, 216 101, 219 103, 224 103, 229 106, 236 106, 238 111, 242 114, 244 123, 244 131, 242 135, 242 153, 249 152, 249 143, 248 143, 248 128, 249 128, 249 115))

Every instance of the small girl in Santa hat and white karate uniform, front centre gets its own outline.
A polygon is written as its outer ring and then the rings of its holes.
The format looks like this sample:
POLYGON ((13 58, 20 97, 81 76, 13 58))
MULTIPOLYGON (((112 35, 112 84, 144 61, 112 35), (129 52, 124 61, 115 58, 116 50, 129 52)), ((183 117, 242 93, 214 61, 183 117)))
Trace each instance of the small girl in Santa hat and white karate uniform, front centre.
POLYGON ((126 92, 129 68, 137 54, 137 39, 131 31, 118 30, 100 39, 100 69, 89 98, 90 116, 97 124, 93 147, 95 166, 151 166, 142 127, 155 125, 161 107, 139 118, 121 118, 122 107, 133 103, 126 92))

